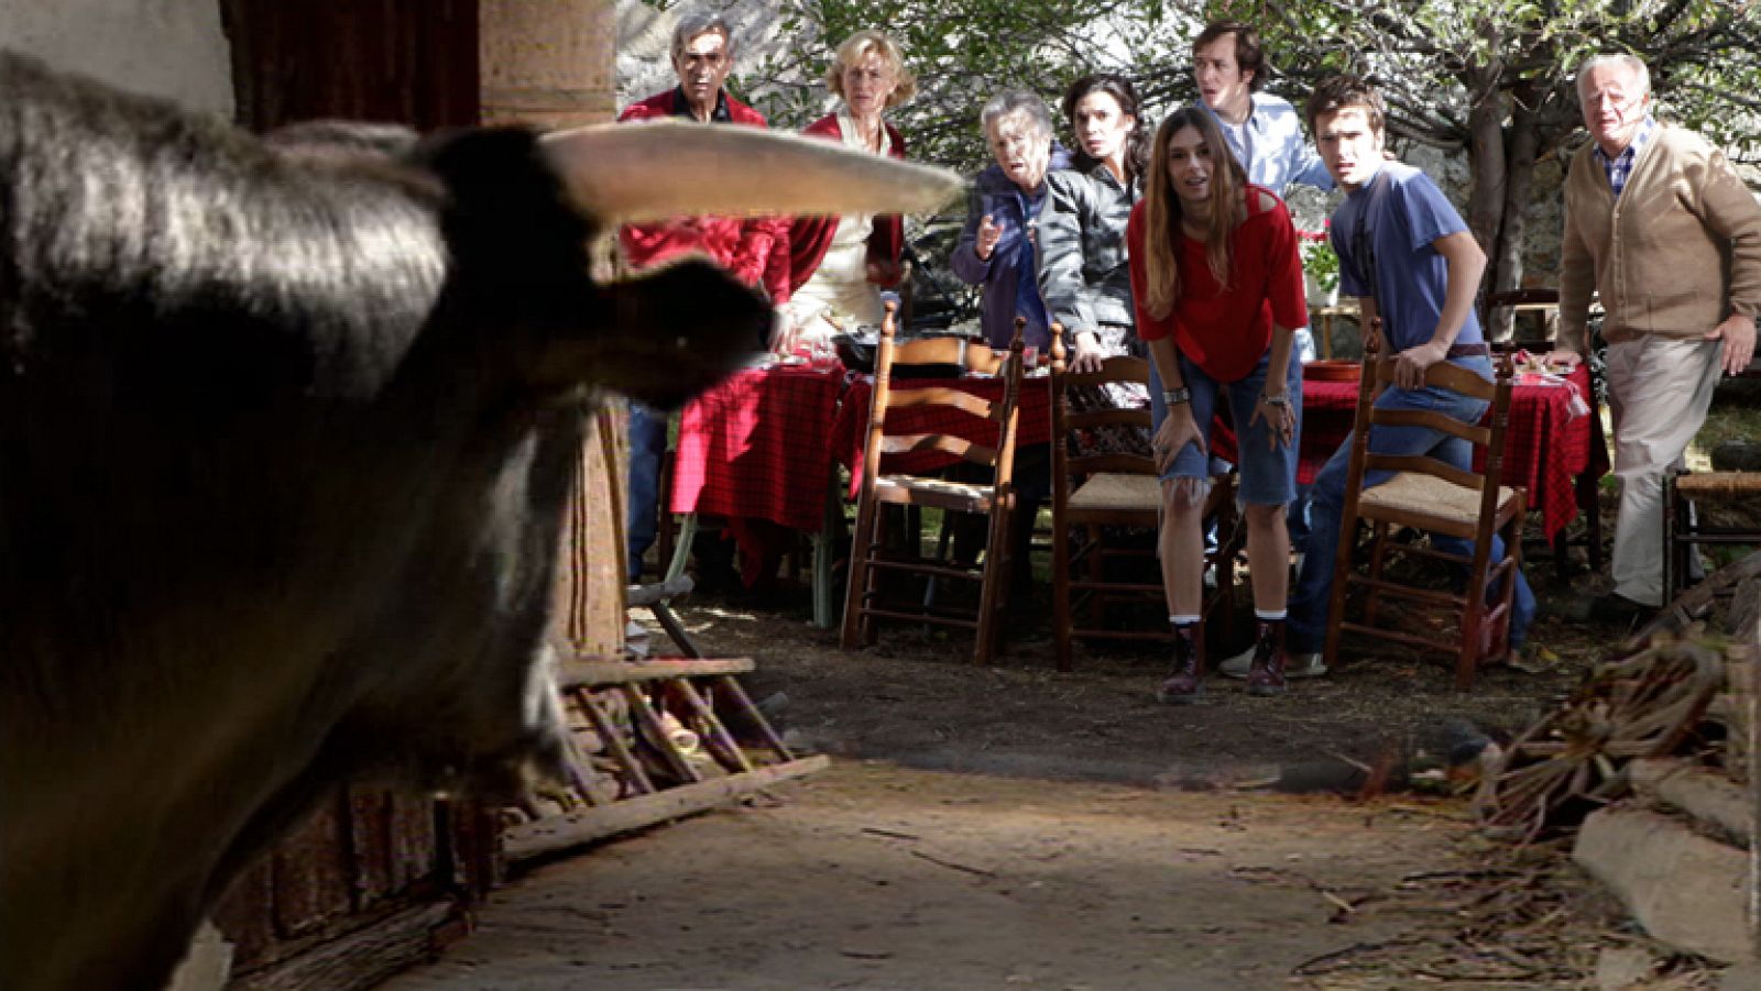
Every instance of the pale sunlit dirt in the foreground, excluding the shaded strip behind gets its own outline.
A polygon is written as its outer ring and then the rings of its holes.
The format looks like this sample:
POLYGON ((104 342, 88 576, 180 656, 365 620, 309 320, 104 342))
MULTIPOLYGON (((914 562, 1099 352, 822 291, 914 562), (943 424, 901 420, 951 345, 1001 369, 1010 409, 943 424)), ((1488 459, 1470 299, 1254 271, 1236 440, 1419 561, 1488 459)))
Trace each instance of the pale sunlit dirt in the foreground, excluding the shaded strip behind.
POLYGON ((1581 987, 1601 896, 1458 813, 842 760, 541 868, 386 987, 1581 987))

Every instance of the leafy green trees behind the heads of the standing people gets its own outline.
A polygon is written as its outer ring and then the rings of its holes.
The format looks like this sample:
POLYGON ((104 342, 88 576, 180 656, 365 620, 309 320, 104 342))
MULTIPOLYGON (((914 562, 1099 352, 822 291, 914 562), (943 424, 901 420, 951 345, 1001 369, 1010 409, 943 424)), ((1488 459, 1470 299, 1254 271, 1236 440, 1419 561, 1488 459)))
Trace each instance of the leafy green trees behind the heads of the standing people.
POLYGON ((1661 118, 1761 162, 1761 0, 782 0, 778 16, 799 44, 741 67, 775 123, 826 113, 819 79, 836 42, 884 26, 917 72, 917 97, 893 111, 912 157, 969 173, 990 160, 977 113, 991 93, 1030 88, 1057 113, 1071 79, 1113 70, 1134 81, 1153 125, 1196 99, 1199 28, 1249 21, 1268 90, 1301 106, 1317 81, 1359 72, 1382 90, 1395 139, 1469 155, 1465 215, 1499 285, 1520 278, 1520 262, 1502 268, 1513 257, 1502 241, 1522 243, 1534 164, 1581 141, 1573 70, 1588 55, 1638 55, 1661 118))

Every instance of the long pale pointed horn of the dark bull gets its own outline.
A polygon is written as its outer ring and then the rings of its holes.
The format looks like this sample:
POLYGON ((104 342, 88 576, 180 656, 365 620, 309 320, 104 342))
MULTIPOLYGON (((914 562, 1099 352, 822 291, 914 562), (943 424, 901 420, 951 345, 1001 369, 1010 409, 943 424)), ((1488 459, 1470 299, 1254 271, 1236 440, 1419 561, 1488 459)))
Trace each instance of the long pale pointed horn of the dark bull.
POLYGON ((544 153, 576 202, 613 222, 930 213, 962 187, 947 169, 757 127, 593 125, 546 134, 544 153))

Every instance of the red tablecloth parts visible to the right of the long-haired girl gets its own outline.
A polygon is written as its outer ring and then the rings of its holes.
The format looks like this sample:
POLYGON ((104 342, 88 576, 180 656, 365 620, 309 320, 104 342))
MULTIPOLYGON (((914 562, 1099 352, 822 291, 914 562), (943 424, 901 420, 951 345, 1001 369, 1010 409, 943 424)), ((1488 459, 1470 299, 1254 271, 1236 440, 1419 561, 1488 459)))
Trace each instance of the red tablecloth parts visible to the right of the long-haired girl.
MULTIPOLYGON (((1580 396, 1588 396, 1590 373, 1571 375, 1580 396)), ((1529 507, 1541 514, 1546 539, 1578 518, 1576 477, 1590 466, 1590 415, 1571 415, 1573 391, 1566 385, 1518 384, 1511 389, 1509 433, 1504 438, 1504 482, 1529 489, 1529 507)), ((1303 438, 1296 477, 1312 482, 1328 458, 1351 435, 1358 412, 1356 382, 1303 380, 1303 438)), ((1492 414, 1486 414, 1490 422, 1492 414)), ((1234 459, 1233 438, 1213 438, 1217 454, 1234 459)), ((1599 473, 1606 472, 1606 456, 1599 473)))

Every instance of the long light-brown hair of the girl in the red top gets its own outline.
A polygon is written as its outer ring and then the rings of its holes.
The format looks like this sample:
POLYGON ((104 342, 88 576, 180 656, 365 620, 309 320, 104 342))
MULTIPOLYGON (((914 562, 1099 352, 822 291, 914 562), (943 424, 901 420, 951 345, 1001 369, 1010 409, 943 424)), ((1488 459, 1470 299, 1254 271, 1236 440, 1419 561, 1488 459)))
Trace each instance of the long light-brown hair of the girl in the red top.
POLYGON ((1150 146, 1150 178, 1143 190, 1143 268, 1150 278, 1146 294, 1150 317, 1168 319, 1180 301, 1180 194, 1168 169, 1168 146, 1175 134, 1194 128, 1212 150, 1210 224, 1205 231, 1205 257, 1219 285, 1229 285, 1234 266, 1234 229, 1247 220, 1247 173, 1234 160, 1222 128, 1201 106, 1182 107, 1155 128, 1150 146))

